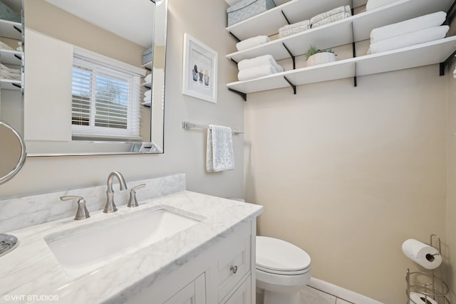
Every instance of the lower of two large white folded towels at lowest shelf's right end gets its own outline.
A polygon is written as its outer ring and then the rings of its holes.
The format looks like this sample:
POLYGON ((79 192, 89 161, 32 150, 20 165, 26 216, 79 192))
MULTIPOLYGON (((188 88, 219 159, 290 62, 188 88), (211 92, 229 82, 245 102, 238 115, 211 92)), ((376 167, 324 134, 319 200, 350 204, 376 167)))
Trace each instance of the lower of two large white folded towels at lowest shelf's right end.
POLYGON ((415 44, 426 43, 435 41, 437 39, 445 38, 449 26, 434 26, 432 28, 425 28, 420 31, 412 33, 405 33, 400 36, 381 40, 371 43, 368 49, 368 54, 380 53, 398 48, 405 48, 407 46, 414 46, 415 44))

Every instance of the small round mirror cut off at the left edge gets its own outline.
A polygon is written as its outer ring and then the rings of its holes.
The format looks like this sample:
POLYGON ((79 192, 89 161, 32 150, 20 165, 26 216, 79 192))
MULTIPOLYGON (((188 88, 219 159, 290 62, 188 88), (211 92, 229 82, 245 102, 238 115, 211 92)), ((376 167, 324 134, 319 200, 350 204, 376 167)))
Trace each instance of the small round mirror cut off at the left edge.
POLYGON ((0 184, 21 171, 26 162, 26 145, 19 132, 0 121, 0 184))

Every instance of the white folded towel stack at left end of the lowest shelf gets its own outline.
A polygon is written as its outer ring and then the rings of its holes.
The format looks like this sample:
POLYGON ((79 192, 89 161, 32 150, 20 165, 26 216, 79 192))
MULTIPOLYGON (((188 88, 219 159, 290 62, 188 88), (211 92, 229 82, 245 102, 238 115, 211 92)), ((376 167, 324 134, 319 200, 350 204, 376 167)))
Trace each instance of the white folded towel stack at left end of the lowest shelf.
POLYGON ((239 68, 237 78, 239 78, 240 81, 259 78, 284 71, 284 68, 277 64, 274 57, 271 55, 244 59, 237 64, 237 68, 239 68))

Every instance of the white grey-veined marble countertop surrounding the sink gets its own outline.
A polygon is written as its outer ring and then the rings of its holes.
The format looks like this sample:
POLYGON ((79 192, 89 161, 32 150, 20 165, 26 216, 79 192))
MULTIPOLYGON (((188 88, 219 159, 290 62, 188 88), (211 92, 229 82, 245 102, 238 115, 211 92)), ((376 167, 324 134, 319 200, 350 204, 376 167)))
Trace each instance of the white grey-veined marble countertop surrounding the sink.
POLYGON ((183 191, 141 201, 134 209, 118 206, 114 214, 95 211, 83 221, 74 221, 72 216, 10 231, 8 234, 20 243, 0 257, 0 303, 123 303, 230 234, 237 224, 254 219, 262 209, 255 204, 183 191), (44 239, 66 229, 122 219, 160 205, 197 214, 203 220, 77 278, 65 273, 44 239))

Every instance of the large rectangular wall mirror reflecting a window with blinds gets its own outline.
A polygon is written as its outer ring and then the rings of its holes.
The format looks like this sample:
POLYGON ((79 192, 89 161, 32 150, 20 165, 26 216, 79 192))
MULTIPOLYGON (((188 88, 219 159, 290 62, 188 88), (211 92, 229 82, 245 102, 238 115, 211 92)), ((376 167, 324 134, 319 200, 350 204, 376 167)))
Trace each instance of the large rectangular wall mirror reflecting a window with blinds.
POLYGON ((22 3, 28 156, 162 153, 167 0, 22 3))

